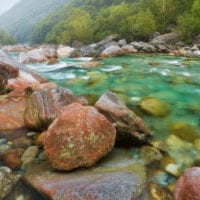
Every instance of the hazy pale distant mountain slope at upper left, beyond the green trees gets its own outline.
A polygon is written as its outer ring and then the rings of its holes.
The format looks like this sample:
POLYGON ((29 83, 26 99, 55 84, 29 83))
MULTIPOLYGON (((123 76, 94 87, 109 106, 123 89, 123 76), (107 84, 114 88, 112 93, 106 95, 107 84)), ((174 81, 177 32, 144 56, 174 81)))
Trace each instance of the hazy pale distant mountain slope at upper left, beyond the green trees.
POLYGON ((33 25, 69 0, 21 0, 0 16, 0 28, 27 42, 33 25))

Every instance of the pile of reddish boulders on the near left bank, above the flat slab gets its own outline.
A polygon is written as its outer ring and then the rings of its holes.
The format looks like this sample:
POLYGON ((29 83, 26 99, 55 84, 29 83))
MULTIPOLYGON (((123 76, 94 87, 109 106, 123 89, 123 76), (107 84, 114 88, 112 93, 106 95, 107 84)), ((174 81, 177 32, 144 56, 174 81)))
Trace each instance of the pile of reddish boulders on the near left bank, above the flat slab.
MULTIPOLYGON (((151 136, 144 121, 112 92, 103 94, 93 107, 84 97, 48 82, 3 53, 0 68, 1 136, 16 141, 30 131, 42 133, 36 141, 42 140, 39 144, 55 169, 95 164, 113 149, 116 132, 141 142, 151 136)), ((20 157, 23 151, 13 154, 20 157)), ((13 161, 12 166, 11 160, 9 167, 19 168, 21 163, 13 161)))

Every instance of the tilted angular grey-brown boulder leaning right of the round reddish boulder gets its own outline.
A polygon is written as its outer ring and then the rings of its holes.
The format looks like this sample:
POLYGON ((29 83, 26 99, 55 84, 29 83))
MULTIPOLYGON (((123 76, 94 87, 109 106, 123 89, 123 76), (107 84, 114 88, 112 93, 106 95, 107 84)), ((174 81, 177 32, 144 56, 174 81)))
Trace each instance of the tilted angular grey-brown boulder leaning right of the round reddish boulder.
MULTIPOLYGON (((95 107, 107 117, 117 128, 117 137, 137 139, 148 142, 151 136, 150 130, 144 121, 118 98, 115 93, 105 92, 96 102, 95 107)), ((129 141, 130 141, 129 140, 129 141)))

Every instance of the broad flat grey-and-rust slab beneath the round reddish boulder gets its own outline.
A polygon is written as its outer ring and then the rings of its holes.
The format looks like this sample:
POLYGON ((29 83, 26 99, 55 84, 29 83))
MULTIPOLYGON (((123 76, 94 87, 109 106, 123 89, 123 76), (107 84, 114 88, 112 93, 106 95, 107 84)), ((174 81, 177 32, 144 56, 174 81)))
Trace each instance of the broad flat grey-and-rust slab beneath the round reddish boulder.
POLYGON ((145 187, 146 172, 133 152, 114 149, 95 167, 67 173, 52 170, 48 164, 36 165, 26 171, 24 180, 52 200, 137 199, 145 187))

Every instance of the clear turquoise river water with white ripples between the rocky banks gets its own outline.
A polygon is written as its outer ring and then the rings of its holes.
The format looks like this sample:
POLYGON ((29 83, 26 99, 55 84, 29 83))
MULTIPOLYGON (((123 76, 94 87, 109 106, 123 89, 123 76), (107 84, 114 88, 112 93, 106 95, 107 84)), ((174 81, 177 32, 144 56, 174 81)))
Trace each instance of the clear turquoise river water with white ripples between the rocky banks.
POLYGON ((140 115, 154 133, 165 139, 169 127, 187 122, 200 130, 200 59, 163 55, 131 55, 106 58, 85 68, 89 58, 61 59, 59 64, 29 65, 50 81, 84 95, 94 103, 106 90, 116 92, 140 115), (155 97, 170 106, 166 117, 154 117, 140 108, 145 97, 155 97))

